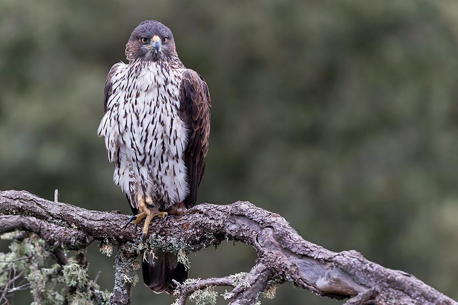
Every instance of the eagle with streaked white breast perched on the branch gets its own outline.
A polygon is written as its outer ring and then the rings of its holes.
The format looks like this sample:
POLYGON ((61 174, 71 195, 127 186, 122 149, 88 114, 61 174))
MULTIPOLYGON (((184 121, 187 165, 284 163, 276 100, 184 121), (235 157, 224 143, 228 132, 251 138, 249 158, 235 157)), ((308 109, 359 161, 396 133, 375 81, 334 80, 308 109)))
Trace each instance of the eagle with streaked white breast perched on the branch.
MULTIPOLYGON (((135 216, 145 219, 182 215, 196 203, 210 134, 210 96, 205 80, 178 58, 172 32, 164 24, 141 22, 126 44, 128 64, 108 73, 104 116, 98 136, 105 137, 113 179, 135 216)), ((128 223, 129 223, 128 222, 128 223)), ((171 253, 143 261, 144 283, 156 293, 173 293, 173 280, 187 271, 171 253)))

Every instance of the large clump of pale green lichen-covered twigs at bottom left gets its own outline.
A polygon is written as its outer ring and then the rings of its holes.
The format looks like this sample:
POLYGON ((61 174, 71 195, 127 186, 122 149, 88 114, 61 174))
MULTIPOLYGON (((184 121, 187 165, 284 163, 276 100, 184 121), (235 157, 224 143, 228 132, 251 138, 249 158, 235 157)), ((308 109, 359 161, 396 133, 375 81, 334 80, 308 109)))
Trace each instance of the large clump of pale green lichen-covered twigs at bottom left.
POLYGON ((8 281, 9 270, 14 266, 16 274, 30 283, 30 293, 35 300, 32 305, 57 305, 67 300, 68 304, 105 305, 109 303, 110 292, 88 279, 87 266, 76 258, 69 258, 64 266, 53 264, 48 258, 51 249, 34 234, 20 232, 3 234, 2 239, 12 240, 8 253, 0 253, 0 285, 8 281), (64 287, 62 287, 64 284, 64 287))

